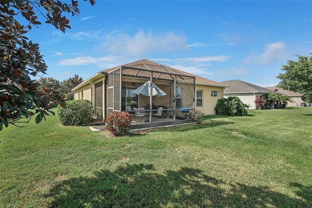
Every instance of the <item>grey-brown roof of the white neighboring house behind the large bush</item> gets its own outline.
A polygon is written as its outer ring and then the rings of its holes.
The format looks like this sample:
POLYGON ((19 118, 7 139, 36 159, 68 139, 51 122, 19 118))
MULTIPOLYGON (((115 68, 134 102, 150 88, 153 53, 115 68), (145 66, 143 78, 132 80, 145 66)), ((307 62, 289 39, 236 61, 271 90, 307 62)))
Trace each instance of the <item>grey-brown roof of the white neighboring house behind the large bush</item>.
POLYGON ((255 84, 246 83, 240 80, 228 80, 221 82, 229 87, 224 89, 224 94, 230 93, 270 93, 274 92, 271 89, 267 89, 255 84))

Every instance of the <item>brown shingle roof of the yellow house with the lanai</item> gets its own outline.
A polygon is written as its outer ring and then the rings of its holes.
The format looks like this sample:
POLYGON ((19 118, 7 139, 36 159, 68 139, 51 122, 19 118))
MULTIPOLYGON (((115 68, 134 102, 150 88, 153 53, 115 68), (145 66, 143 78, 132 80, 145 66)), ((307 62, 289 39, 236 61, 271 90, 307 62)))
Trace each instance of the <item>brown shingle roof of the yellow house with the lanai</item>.
MULTIPOLYGON (((152 62, 152 61, 149 61, 149 60, 146 60, 146 59, 142 59, 142 60, 139 60, 139 61, 136 61, 136 62, 126 63, 126 64, 123 64, 123 65, 120 65, 120 66, 129 66, 129 67, 135 67, 135 68, 141 68, 141 67, 145 67, 146 68, 146 67, 148 67, 148 68, 151 68, 153 71, 162 71, 162 72, 166 71, 166 72, 173 73, 173 74, 179 74, 179 75, 186 75, 186 76, 195 77, 195 83, 196 84, 214 85, 214 86, 223 86, 223 87, 226 86, 226 85, 224 85, 222 83, 218 83, 218 82, 215 82, 215 81, 203 78, 203 77, 199 77, 199 76, 196 76, 194 74, 190 74, 190 73, 187 73, 187 72, 184 72, 184 71, 180 71, 178 69, 175 69, 175 68, 172 68, 172 67, 169 67, 169 66, 165 66, 165 65, 162 65, 162 64, 159 64, 159 63, 156 63, 156 62, 152 62)), ((103 71, 104 72, 111 72, 113 70, 116 70, 120 66, 109 68, 109 69, 106 69, 106 70, 103 70, 103 71)))

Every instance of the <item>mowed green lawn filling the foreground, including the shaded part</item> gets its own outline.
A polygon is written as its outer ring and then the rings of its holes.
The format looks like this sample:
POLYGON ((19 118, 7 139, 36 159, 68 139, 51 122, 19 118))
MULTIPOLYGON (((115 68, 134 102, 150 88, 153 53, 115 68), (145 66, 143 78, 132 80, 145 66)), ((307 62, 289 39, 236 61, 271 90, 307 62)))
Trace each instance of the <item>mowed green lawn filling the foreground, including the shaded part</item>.
POLYGON ((312 207, 312 108, 107 138, 57 117, 0 132, 0 207, 312 207))

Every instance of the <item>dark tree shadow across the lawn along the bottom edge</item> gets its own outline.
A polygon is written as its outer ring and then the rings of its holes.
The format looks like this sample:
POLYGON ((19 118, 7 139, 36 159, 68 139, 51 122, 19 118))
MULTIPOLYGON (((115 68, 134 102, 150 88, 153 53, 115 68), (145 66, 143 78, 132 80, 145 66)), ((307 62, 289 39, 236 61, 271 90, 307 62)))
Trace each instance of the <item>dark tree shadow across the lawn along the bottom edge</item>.
POLYGON ((93 177, 63 180, 44 197, 51 207, 311 207, 268 187, 229 184, 182 167, 157 173, 153 165, 126 164, 93 177))

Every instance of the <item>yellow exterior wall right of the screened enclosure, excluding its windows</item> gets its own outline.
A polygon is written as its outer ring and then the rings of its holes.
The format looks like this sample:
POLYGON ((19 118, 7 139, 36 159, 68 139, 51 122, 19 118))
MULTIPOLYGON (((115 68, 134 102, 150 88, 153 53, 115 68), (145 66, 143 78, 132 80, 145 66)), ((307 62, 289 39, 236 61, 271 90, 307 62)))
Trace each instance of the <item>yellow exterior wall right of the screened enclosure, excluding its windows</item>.
MULTIPOLYGON (((203 106, 197 107, 195 104, 195 109, 200 110, 205 115, 214 115, 215 114, 215 105, 218 102, 218 99, 223 98, 223 89, 224 87, 218 86, 207 86, 207 85, 195 85, 195 96, 197 90, 203 90, 203 106), (218 91, 217 97, 211 96, 211 91, 218 91)), ((196 97, 195 97, 196 101, 196 97)))

